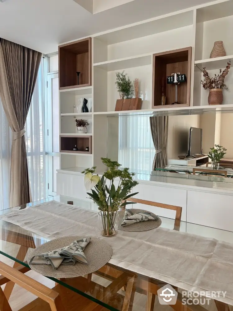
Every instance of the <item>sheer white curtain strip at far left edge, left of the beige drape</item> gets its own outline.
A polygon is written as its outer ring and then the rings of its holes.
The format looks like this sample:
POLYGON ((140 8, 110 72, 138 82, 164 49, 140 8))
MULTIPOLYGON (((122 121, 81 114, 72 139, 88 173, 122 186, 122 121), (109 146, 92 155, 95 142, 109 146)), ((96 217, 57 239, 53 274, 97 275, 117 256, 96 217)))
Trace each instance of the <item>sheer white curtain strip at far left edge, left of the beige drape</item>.
POLYGON ((11 130, 0 100, 0 210, 10 204, 11 130))

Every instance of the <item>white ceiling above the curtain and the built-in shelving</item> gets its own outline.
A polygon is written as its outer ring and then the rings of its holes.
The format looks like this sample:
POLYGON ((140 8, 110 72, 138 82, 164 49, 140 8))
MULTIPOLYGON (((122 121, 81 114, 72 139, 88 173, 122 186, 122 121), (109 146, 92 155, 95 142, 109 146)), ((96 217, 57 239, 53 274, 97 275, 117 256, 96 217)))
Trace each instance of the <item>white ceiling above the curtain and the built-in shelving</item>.
POLYGON ((59 43, 210 2, 134 0, 92 14, 76 1, 79 0, 0 2, 0 37, 43 53, 52 53, 57 51, 59 43))

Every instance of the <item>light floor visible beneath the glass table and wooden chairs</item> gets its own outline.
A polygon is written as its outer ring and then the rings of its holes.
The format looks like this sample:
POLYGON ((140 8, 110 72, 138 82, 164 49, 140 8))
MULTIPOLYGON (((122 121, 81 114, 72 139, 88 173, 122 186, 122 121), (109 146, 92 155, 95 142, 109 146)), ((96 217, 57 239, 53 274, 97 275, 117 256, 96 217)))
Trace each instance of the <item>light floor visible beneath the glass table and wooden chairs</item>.
MULTIPOLYGON (((1 243, 2 241, 0 241, 1 243)), ((8 242, 4 242, 8 243, 8 242)), ((11 244, 11 243, 8 243, 11 244)), ((7 244, 5 244, 7 246, 7 244)), ((12 244, 9 245, 9 247, 12 248, 12 244)), ((17 253, 17 245, 15 245, 15 251, 17 253)), ((7 263, 9 266, 13 266, 13 261, 11 259, 6 258, 5 256, 0 254, 0 261, 7 263)), ((28 276, 33 278, 34 280, 42 283, 43 285, 48 286, 49 288, 53 288, 55 286, 55 282, 51 281, 47 277, 44 277, 42 275, 39 275, 38 273, 34 271, 29 271, 26 273, 28 276)), ((108 281, 106 279, 103 279, 99 276, 92 276, 92 281, 103 285, 107 286, 111 283, 111 281, 108 281)), ((2 289, 4 288, 4 285, 2 286, 2 289)), ((119 294, 124 295, 125 292, 123 290, 118 291, 119 294)), ((29 293, 28 291, 22 289, 18 285, 15 285, 11 297, 9 299, 10 306, 12 308, 12 311, 18 311, 21 308, 23 308, 25 305, 29 304, 31 301, 36 299, 37 297, 29 293)), ((143 311, 145 310, 146 306, 146 296, 143 294, 135 293, 135 298, 134 298, 134 304, 133 304, 133 311, 143 311)), ((211 301, 210 305, 203 306, 205 307, 208 311, 217 311, 217 308, 215 306, 214 301, 211 301)), ((173 309, 170 306, 167 305, 161 305, 158 302, 158 296, 156 296, 155 299, 155 305, 154 305, 154 310, 156 311, 172 311, 173 309)), ((230 310, 233 311, 233 309, 230 307, 230 310)))

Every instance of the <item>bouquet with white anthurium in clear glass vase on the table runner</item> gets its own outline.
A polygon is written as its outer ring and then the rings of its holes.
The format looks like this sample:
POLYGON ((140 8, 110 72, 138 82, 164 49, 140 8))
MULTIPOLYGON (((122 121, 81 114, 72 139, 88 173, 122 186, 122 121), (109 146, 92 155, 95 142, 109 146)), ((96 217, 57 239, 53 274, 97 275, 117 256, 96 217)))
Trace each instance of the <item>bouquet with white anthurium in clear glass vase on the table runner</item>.
POLYGON ((108 158, 101 158, 101 160, 107 166, 107 171, 101 178, 98 174, 94 174, 96 166, 85 169, 82 174, 85 174, 86 189, 91 190, 91 193, 87 192, 87 194, 98 205, 98 227, 101 234, 113 236, 116 234, 119 222, 118 210, 122 206, 132 204, 132 202, 123 201, 138 194, 138 192, 130 193, 138 182, 133 179, 135 174, 130 173, 128 168, 118 169, 121 164, 117 161, 108 158), (115 187, 116 178, 119 178, 117 187, 115 187))

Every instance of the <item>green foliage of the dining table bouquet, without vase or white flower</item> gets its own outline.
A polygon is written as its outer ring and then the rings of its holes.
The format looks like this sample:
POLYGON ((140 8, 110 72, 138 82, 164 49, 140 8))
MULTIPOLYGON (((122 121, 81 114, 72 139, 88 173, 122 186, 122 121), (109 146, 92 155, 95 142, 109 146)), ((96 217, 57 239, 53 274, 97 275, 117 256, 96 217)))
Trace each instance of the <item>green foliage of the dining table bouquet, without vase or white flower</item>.
MULTIPOLYGON (((118 169, 121 164, 117 161, 112 161, 108 158, 101 158, 101 160, 103 164, 107 166, 107 171, 104 172, 102 178, 99 179, 95 190, 91 189, 92 193, 87 194, 98 205, 100 211, 118 211, 121 206, 126 205, 126 203, 123 203, 124 200, 138 194, 138 192, 131 193, 132 188, 135 187, 138 182, 133 180, 135 173, 130 173, 129 168, 121 170, 118 169), (117 188, 114 185, 115 178, 119 178, 117 188)), ((93 166, 90 169, 85 169, 82 173, 94 174, 95 169, 96 166, 93 166)))

